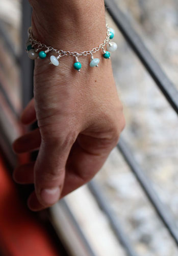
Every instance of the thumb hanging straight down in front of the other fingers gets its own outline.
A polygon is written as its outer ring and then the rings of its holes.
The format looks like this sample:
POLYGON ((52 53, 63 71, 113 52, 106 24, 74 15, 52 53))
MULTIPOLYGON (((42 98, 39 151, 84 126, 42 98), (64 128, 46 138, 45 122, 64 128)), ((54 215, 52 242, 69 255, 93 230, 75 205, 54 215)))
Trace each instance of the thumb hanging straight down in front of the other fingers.
MULTIPOLYGON (((59 125, 57 129, 59 130, 59 125)), ((66 129, 62 129, 55 137, 54 131, 48 131, 48 133, 50 137, 46 141, 42 139, 34 166, 36 196, 45 207, 53 205, 60 198, 66 161, 77 137, 73 133, 66 134, 66 129)))

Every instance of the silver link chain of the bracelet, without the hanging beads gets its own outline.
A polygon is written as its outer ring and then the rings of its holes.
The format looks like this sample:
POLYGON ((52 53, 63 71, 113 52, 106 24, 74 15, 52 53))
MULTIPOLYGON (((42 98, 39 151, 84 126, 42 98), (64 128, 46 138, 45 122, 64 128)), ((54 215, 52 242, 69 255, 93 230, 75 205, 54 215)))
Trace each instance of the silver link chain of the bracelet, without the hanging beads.
POLYGON ((32 27, 29 28, 28 33, 29 33, 29 41, 33 46, 36 47, 36 51, 44 49, 44 51, 46 52, 50 52, 50 51, 56 52, 60 55, 60 57, 69 56, 69 55, 72 55, 74 57, 79 57, 79 56, 87 56, 90 54, 92 55, 93 53, 99 51, 100 49, 103 49, 103 47, 106 46, 106 44, 110 41, 110 29, 108 27, 108 24, 106 24, 106 28, 107 28, 107 37, 105 38, 104 42, 100 44, 98 47, 93 48, 92 50, 84 51, 81 53, 58 50, 58 49, 54 49, 52 46, 46 46, 45 44, 42 44, 40 41, 37 41, 37 39, 33 37, 32 27))

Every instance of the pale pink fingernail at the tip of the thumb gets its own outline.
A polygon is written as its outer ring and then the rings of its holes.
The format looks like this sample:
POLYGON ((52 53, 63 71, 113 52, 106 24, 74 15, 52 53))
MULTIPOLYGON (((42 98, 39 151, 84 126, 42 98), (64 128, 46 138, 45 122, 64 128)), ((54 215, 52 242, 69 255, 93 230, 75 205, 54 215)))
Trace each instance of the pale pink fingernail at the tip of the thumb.
POLYGON ((55 204, 60 197, 60 188, 45 188, 41 190, 41 200, 45 205, 55 204))

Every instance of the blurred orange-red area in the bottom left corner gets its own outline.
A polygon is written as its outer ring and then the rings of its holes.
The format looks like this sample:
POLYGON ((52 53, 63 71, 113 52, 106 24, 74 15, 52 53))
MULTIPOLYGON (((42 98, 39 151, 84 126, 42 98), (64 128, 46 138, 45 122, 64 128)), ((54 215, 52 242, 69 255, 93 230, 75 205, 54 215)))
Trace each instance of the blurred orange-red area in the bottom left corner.
POLYGON ((59 256, 45 229, 20 202, 1 156, 0 248, 3 256, 59 256))

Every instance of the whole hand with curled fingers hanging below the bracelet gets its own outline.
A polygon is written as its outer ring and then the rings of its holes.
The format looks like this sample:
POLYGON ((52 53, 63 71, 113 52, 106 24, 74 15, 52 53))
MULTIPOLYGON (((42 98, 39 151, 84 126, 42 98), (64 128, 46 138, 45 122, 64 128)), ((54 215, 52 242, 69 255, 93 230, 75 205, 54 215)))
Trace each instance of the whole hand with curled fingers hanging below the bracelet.
POLYGON ((80 58, 80 73, 73 69, 70 56, 61 58, 59 67, 48 65, 47 59, 35 60, 34 99, 24 109, 21 122, 29 125, 37 119, 38 129, 13 143, 16 153, 39 148, 35 162, 14 170, 16 182, 35 184, 28 200, 32 210, 53 205, 91 180, 123 130, 111 60, 100 52, 95 57, 101 59, 98 68, 90 68, 88 59, 80 58))

